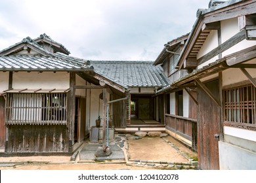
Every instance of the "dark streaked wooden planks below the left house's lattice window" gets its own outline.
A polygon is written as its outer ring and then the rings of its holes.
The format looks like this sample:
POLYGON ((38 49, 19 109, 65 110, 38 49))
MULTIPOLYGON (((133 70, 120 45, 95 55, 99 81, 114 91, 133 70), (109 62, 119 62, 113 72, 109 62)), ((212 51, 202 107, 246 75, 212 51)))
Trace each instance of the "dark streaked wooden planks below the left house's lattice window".
POLYGON ((68 152, 66 125, 9 125, 7 152, 68 152))

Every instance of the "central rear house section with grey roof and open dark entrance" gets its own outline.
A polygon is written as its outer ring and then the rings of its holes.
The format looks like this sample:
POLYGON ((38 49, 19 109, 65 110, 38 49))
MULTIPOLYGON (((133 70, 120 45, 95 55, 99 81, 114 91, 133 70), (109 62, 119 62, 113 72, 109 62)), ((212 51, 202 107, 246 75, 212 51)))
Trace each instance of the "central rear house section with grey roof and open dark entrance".
POLYGON ((156 90, 168 84, 160 65, 152 61, 91 61, 91 65, 98 75, 127 88, 125 94, 110 95, 110 101, 127 97, 112 105, 116 131, 165 131, 163 99, 155 96, 156 90))

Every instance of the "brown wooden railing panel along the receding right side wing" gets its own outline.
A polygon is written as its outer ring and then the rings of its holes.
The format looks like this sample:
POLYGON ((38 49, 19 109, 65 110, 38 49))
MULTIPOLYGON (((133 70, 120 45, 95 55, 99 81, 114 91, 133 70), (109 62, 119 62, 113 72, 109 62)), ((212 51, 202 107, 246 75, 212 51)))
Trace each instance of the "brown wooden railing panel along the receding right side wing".
POLYGON ((197 151, 197 121, 192 118, 165 114, 165 126, 173 133, 192 142, 192 149, 197 151))

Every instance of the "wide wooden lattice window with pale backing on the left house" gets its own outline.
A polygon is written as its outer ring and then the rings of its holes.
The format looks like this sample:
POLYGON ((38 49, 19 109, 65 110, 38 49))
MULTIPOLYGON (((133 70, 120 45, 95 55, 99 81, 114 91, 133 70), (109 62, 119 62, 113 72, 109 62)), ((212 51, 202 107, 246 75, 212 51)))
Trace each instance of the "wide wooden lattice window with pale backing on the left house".
POLYGON ((66 124, 66 93, 7 93, 5 124, 66 124))

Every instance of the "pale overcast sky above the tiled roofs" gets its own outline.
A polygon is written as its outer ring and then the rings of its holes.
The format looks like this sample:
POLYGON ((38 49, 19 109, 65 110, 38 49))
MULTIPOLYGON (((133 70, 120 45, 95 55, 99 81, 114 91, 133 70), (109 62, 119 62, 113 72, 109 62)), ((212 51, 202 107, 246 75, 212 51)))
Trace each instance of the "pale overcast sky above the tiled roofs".
POLYGON ((209 0, 1 0, 0 50, 46 33, 71 56, 154 61, 209 0))

